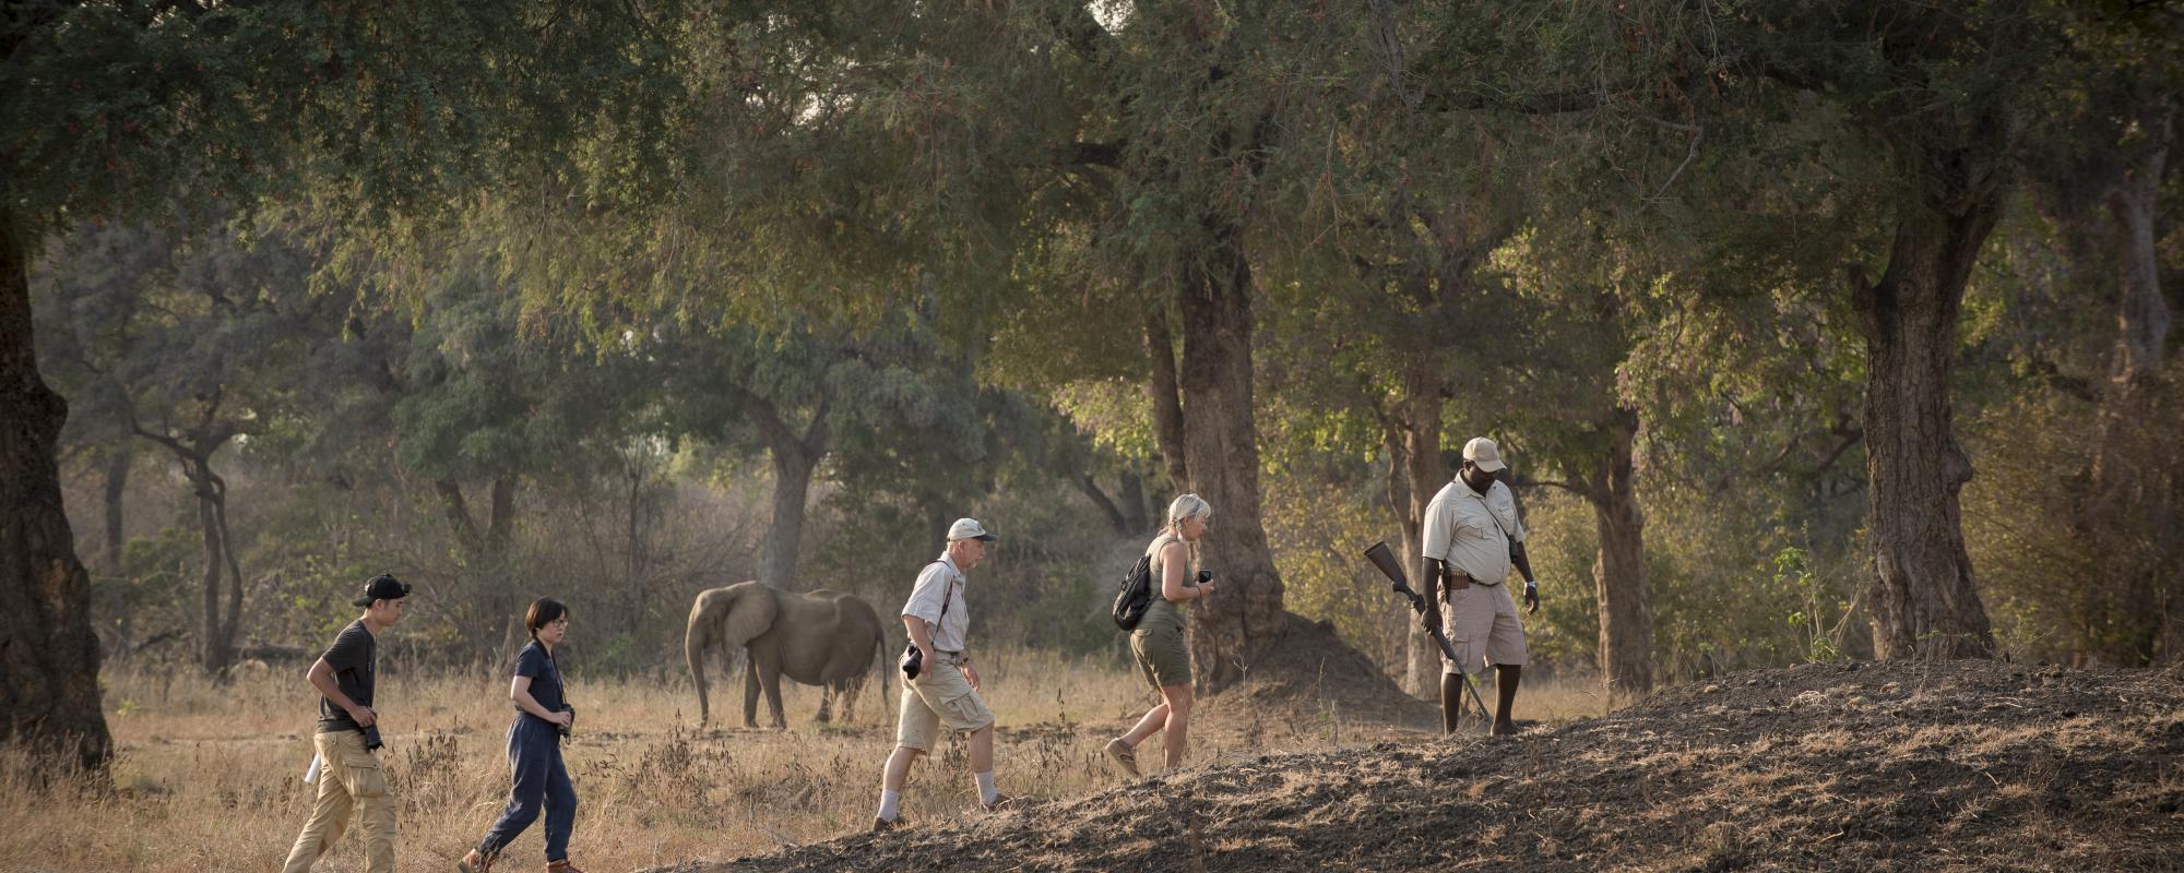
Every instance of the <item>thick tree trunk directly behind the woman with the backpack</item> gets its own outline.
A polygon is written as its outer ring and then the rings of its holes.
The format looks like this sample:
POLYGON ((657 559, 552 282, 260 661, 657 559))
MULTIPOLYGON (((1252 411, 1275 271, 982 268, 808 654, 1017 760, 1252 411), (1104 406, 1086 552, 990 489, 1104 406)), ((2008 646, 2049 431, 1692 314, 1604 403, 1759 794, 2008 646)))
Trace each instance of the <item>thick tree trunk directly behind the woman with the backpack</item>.
POLYGON ((1282 629, 1282 576, 1258 506, 1251 266, 1236 227, 1219 227, 1214 240, 1186 271, 1179 295, 1184 452, 1190 489, 1214 506, 1201 548, 1203 565, 1221 581, 1219 594, 1190 609, 1190 655, 1208 692, 1243 679, 1256 648, 1282 629))

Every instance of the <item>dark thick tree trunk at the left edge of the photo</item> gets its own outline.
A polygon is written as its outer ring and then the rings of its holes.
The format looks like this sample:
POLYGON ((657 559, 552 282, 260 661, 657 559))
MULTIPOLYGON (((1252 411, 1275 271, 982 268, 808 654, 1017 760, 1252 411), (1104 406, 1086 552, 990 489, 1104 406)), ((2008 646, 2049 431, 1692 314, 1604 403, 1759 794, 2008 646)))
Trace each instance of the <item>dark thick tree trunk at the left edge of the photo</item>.
POLYGON ((0 207, 0 742, 105 773, 92 585, 55 461, 68 404, 37 373, 20 244, 0 207))

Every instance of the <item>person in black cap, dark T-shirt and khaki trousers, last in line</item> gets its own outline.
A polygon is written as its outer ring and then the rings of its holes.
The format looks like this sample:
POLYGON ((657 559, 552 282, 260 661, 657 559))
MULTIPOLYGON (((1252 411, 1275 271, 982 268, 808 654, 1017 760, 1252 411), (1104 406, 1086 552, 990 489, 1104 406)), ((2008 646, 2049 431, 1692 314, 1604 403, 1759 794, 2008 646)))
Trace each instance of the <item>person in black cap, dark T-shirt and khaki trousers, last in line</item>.
POLYGON ((308 873, 349 825, 349 812, 363 821, 365 869, 395 871, 395 799, 387 790, 378 757, 378 714, 371 711, 371 681, 378 659, 378 633, 402 620, 402 598, 408 585, 393 576, 371 576, 365 594, 349 600, 365 613, 341 629, 334 644, 310 666, 310 687, 319 690, 319 736, 312 746, 325 762, 319 775, 319 801, 304 821, 304 834, 288 849, 284 873, 308 873), (367 746, 365 731, 373 744, 367 746))

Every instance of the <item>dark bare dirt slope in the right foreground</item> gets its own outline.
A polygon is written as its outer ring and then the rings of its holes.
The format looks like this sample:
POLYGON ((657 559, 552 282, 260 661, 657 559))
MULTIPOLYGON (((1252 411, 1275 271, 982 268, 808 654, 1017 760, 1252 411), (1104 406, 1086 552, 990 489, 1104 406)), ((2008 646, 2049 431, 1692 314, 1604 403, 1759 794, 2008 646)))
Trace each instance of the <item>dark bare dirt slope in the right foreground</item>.
POLYGON ((1797 666, 1518 738, 1225 753, 992 816, 904 812, 657 871, 2175 871, 2184 674, 1797 666))

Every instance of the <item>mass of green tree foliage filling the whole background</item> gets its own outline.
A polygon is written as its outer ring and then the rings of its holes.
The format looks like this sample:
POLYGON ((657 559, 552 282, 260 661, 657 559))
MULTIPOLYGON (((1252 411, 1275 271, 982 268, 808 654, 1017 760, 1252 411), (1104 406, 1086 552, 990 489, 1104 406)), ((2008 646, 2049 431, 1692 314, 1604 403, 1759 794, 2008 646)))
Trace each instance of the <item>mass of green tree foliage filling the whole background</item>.
MULTIPOLYGON (((485 655, 509 602, 581 591, 590 663, 646 670, 690 594, 749 576, 760 454, 808 450, 810 585, 885 613, 939 526, 981 515, 1005 539, 976 633, 1112 646, 1109 563, 1144 535, 1116 528, 1149 506, 1085 495, 1160 480, 1147 316, 1234 247, 1258 349, 1234 415, 1291 609, 1402 657, 1356 552, 1396 541, 1406 399, 1446 402, 1444 456, 1492 432, 1527 482, 1577 489, 1627 412, 1660 672, 1861 657, 1845 273, 1977 164, 2035 192, 1961 323, 1977 578, 2011 653, 2162 646, 2184 423, 2160 386, 2101 430, 2114 264, 2086 253, 2173 103, 2158 11, 20 7, 0 227, 66 234, 37 330, 68 443, 216 426, 264 639, 330 633, 341 591, 397 570, 430 589, 406 633, 428 648, 485 655), (2092 443, 2127 493, 2018 474, 2092 443), (522 524, 487 557, 443 517, 489 480, 522 482, 522 524)), ((1522 500, 1531 646, 1588 661, 1592 506, 1522 500)), ((103 618, 190 613, 199 546, 166 522, 98 581, 103 618)))

